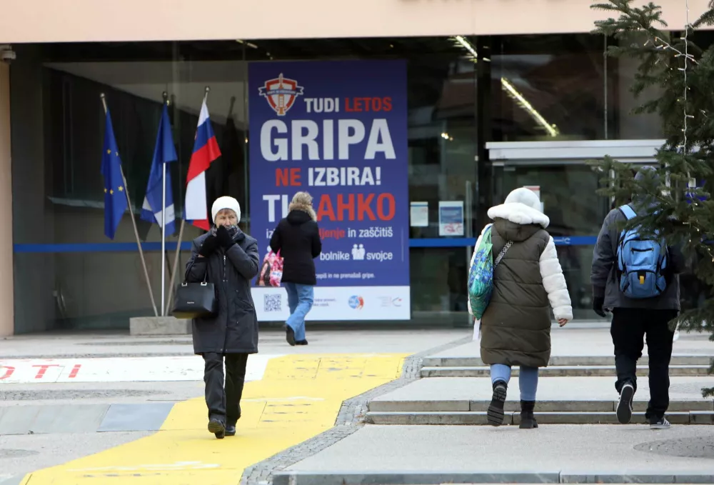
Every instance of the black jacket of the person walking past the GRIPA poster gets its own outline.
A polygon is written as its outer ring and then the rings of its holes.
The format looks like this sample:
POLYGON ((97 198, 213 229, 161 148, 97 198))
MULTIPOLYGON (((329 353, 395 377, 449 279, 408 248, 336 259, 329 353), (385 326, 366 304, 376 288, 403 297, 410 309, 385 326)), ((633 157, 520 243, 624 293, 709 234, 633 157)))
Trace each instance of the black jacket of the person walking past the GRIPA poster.
POLYGON ((291 210, 278 222, 270 246, 283 257, 283 283, 317 284, 313 259, 320 256, 322 241, 311 214, 301 209, 291 210))

